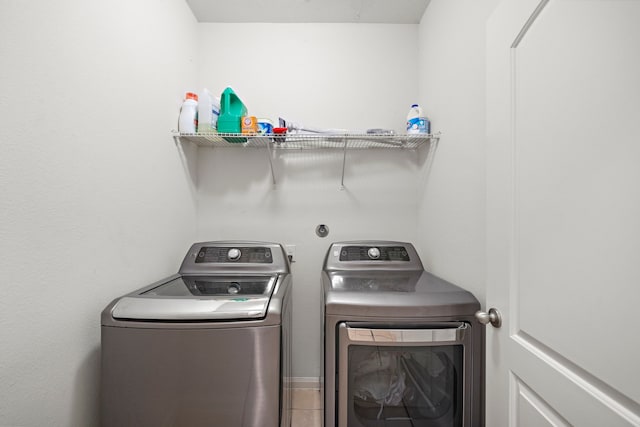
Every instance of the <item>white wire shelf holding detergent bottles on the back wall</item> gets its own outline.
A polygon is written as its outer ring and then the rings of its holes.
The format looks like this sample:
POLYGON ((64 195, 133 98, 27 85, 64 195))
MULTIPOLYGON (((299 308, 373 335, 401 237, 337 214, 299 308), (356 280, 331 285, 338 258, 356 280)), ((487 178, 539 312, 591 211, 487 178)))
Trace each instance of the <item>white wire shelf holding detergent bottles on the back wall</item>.
POLYGON ((235 133, 177 133, 174 136, 201 147, 220 148, 264 148, 277 150, 323 150, 323 149, 408 149, 414 150, 431 140, 440 138, 436 134, 378 135, 378 134, 287 134, 287 135, 243 135, 235 133))

